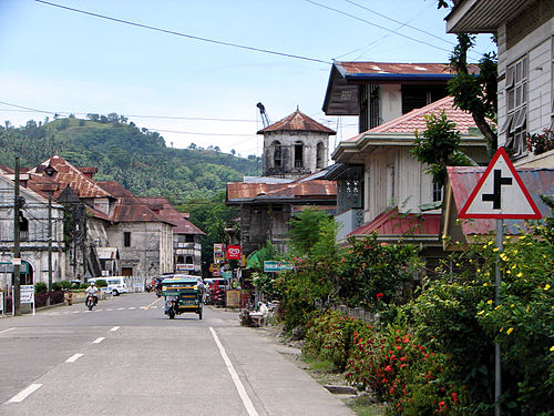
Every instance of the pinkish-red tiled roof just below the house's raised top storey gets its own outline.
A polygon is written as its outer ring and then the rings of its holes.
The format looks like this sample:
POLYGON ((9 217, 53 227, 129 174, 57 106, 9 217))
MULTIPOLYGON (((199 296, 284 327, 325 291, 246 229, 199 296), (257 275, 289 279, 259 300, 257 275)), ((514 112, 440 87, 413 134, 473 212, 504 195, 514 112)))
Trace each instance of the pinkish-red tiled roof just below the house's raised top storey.
MULTIPOLYGON (((401 115, 387 123, 378 125, 367 133, 408 133, 411 134, 416 130, 427 130, 427 122, 424 116, 433 113, 440 115, 442 111, 447 114, 450 121, 455 123, 455 129, 462 133, 466 133, 470 128, 475 128, 475 122, 471 114, 466 111, 454 109, 452 106, 454 99, 452 97, 444 97, 441 100, 432 102, 429 105, 416 109, 409 113, 401 115)), ((359 135, 349 139, 350 141, 358 140, 359 135)))

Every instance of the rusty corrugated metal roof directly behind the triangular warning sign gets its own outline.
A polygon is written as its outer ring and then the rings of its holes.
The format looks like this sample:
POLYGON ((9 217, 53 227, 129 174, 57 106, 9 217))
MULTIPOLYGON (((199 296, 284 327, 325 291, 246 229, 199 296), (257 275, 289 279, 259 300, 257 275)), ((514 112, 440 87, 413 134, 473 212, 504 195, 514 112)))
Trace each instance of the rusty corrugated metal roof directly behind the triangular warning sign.
MULTIPOLYGON (((448 168, 450 186, 454 196, 454 203, 460 212, 483 175, 486 168, 450 166, 448 168)), ((554 194, 554 169, 516 169, 523 184, 527 189, 534 203, 544 217, 552 215, 540 195, 554 194)), ((504 226, 509 234, 520 234, 520 230, 527 230, 524 220, 504 220, 504 226)), ((496 220, 462 220, 462 231, 465 235, 489 234, 496 230, 496 220)))

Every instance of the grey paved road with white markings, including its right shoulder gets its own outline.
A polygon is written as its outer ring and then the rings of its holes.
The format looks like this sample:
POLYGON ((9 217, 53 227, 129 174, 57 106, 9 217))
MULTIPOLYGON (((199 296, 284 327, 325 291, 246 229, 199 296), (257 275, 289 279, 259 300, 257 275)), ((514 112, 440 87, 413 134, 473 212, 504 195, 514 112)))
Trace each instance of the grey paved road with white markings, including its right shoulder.
POLYGON ((0 415, 352 415, 237 313, 153 294, 0 318, 0 415))

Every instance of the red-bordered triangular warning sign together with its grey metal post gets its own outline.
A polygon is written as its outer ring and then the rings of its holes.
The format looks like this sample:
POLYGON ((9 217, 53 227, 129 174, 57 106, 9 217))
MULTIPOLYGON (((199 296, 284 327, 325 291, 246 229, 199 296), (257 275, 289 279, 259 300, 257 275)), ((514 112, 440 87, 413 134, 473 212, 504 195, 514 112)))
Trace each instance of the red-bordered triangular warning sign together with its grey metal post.
MULTIPOLYGON (((473 189, 459 214, 460 219, 496 219, 496 267, 494 302, 501 304, 500 255, 504 250, 504 219, 527 220, 542 217, 504 148, 500 148, 473 189)), ((494 345, 494 415, 501 415, 502 354, 494 345)))

